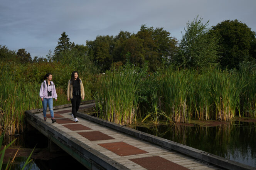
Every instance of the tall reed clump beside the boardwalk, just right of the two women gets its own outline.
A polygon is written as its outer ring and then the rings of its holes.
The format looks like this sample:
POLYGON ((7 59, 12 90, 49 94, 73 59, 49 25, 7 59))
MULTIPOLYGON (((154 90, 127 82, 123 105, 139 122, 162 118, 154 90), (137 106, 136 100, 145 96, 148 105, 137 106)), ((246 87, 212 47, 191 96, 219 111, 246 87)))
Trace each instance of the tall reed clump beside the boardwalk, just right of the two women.
POLYGON ((97 116, 121 125, 136 122, 139 78, 133 69, 107 71, 94 95, 97 116))

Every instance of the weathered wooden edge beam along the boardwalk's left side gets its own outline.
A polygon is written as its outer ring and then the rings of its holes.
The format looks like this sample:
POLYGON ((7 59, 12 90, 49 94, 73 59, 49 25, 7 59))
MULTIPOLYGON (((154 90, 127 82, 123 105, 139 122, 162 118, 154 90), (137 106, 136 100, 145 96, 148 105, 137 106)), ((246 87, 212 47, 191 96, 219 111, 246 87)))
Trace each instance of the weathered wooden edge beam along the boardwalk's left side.
POLYGON ((71 135, 66 134, 50 123, 47 123, 42 119, 38 119, 33 112, 25 111, 25 113, 25 120, 30 125, 39 130, 39 132, 52 140, 55 144, 61 147, 61 149, 65 150, 69 155, 74 157, 88 169, 128 170, 125 166, 75 139, 71 135))

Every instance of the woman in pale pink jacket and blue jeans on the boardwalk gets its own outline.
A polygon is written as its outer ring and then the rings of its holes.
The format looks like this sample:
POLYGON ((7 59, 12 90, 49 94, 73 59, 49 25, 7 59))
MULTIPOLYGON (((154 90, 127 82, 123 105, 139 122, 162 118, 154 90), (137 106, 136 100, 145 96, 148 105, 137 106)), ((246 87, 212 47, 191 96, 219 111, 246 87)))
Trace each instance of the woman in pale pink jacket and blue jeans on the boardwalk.
POLYGON ((55 98, 55 101, 57 102, 57 93, 55 89, 55 85, 52 82, 52 74, 47 73, 44 76, 44 82, 41 84, 41 89, 40 89, 40 98, 43 104, 43 113, 44 113, 44 120, 46 121, 46 109, 47 109, 47 103, 50 109, 51 117, 52 117, 52 123, 56 122, 54 119, 54 113, 53 113, 53 100, 52 98, 55 98))

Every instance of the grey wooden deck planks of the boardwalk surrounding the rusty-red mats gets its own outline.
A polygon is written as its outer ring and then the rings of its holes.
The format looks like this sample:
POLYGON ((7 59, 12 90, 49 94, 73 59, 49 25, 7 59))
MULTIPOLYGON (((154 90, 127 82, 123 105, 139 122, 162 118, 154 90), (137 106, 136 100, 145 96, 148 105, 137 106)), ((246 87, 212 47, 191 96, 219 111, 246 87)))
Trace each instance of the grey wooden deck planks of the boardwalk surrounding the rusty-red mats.
MULTIPOLYGON (((42 115, 38 115, 38 116, 40 117, 40 119, 43 119, 42 115)), ((70 114, 62 114, 62 116, 67 117, 69 119, 72 119, 70 114)), ((58 120, 58 119, 56 119, 56 120, 58 120)), ((74 122, 73 124, 76 124, 76 123, 74 122)), ((163 157, 167 160, 170 160, 174 163, 177 163, 179 165, 182 165, 182 166, 190 168, 190 169, 193 168, 193 167, 200 167, 199 165, 201 165, 201 167, 207 165, 205 163, 199 162, 197 160, 194 160, 192 158, 184 156, 184 155, 182 155, 180 153, 177 153, 175 151, 170 151, 170 150, 164 149, 160 146, 151 144, 149 142, 145 142, 145 141, 140 140, 140 139, 136 139, 136 138, 131 137, 127 134, 123 134, 123 133, 118 132, 116 130, 113 130, 113 129, 110 129, 110 128, 107 128, 107 127, 103 127, 101 125, 89 122, 87 120, 83 120, 81 118, 79 118, 79 124, 82 124, 86 127, 89 127, 89 128, 91 128, 91 130, 70 130, 70 129, 63 126, 65 124, 55 123, 53 125, 55 127, 59 128, 60 130, 66 132, 67 134, 71 135, 72 137, 78 139, 79 141, 81 141, 83 143, 86 143, 87 145, 91 146, 93 149, 98 150, 100 153, 103 153, 107 157, 109 157, 113 160, 116 160, 117 162, 121 163, 122 165, 124 165, 125 167, 127 167, 129 169, 145 169, 145 168, 141 167, 140 165, 130 161, 129 159, 131 159, 131 158, 141 158, 141 157, 150 157, 150 156, 161 156, 161 157, 163 157), (83 136, 81 136, 80 134, 77 133, 77 132, 93 132, 95 130, 100 131, 100 132, 102 132, 106 135, 109 135, 109 136, 111 136, 115 139, 96 140, 96 141, 92 142, 92 141, 86 139, 85 137, 83 137, 83 136), (98 145, 98 144, 104 144, 104 143, 109 143, 109 142, 120 142, 120 141, 126 142, 129 145, 133 145, 134 147, 137 147, 141 150, 145 150, 149 153, 143 153, 143 154, 138 154, 138 155, 120 157, 116 153, 113 153, 113 152, 109 151, 108 149, 105 149, 105 148, 101 147, 100 145, 98 145)), ((209 168, 209 167, 207 167, 207 168, 209 168)))

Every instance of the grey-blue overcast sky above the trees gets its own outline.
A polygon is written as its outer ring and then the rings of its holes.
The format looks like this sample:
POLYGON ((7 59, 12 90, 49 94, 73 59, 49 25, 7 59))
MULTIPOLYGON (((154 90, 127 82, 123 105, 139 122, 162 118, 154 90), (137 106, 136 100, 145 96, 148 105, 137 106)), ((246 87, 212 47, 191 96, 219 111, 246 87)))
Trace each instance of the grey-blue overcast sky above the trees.
POLYGON ((0 45, 45 57, 63 31, 86 45, 97 35, 137 33, 142 24, 180 40, 197 15, 209 26, 237 19, 256 31, 256 0, 0 0, 0 45))

